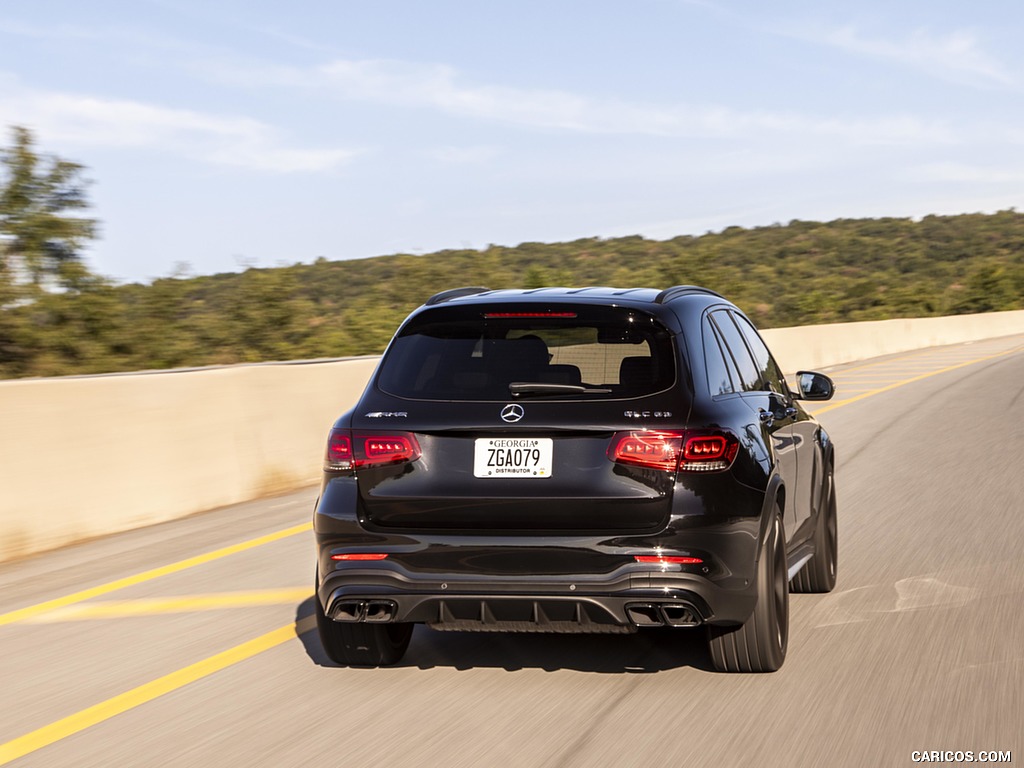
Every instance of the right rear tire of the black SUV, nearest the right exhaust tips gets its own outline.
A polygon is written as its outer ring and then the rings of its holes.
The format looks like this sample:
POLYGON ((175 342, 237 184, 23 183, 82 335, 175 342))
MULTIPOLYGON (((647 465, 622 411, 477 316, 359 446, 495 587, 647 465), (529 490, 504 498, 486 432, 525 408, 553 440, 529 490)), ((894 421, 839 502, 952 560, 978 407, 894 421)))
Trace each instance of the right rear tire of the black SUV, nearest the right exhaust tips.
POLYGON ((758 601, 738 627, 708 628, 712 663, 719 672, 775 672, 790 640, 790 581, 785 536, 777 512, 758 559, 758 601))

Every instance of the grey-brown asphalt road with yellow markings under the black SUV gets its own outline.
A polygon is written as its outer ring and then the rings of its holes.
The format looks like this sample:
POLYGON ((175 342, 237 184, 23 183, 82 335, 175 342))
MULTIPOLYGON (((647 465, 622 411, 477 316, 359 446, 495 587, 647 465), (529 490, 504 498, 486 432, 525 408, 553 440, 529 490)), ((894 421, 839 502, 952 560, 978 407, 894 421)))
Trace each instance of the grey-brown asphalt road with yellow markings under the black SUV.
POLYGON ((0 566, 0 764, 1024 761, 1024 336, 830 373, 839 585, 792 598, 778 673, 716 674, 689 630, 417 628, 397 668, 333 667, 310 488, 0 566))

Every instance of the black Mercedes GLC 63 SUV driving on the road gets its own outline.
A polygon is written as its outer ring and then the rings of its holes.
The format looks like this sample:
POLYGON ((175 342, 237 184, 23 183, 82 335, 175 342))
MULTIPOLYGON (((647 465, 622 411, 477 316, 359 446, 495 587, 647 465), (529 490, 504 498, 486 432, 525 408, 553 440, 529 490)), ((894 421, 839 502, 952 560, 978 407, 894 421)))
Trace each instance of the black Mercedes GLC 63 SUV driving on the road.
POLYGON ((339 664, 437 630, 707 628, 777 670, 836 583, 835 456, 751 322, 693 286, 463 288, 401 325, 331 430, 316 615, 339 664))

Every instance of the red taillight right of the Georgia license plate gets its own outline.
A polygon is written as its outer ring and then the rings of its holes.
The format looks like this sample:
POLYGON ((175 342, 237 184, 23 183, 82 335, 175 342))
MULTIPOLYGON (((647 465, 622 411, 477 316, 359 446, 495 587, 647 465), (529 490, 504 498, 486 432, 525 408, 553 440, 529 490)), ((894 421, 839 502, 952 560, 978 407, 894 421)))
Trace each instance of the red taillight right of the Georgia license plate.
POLYGON ((703 430, 616 432, 608 458, 669 472, 721 472, 732 466, 739 440, 728 432, 703 430))

